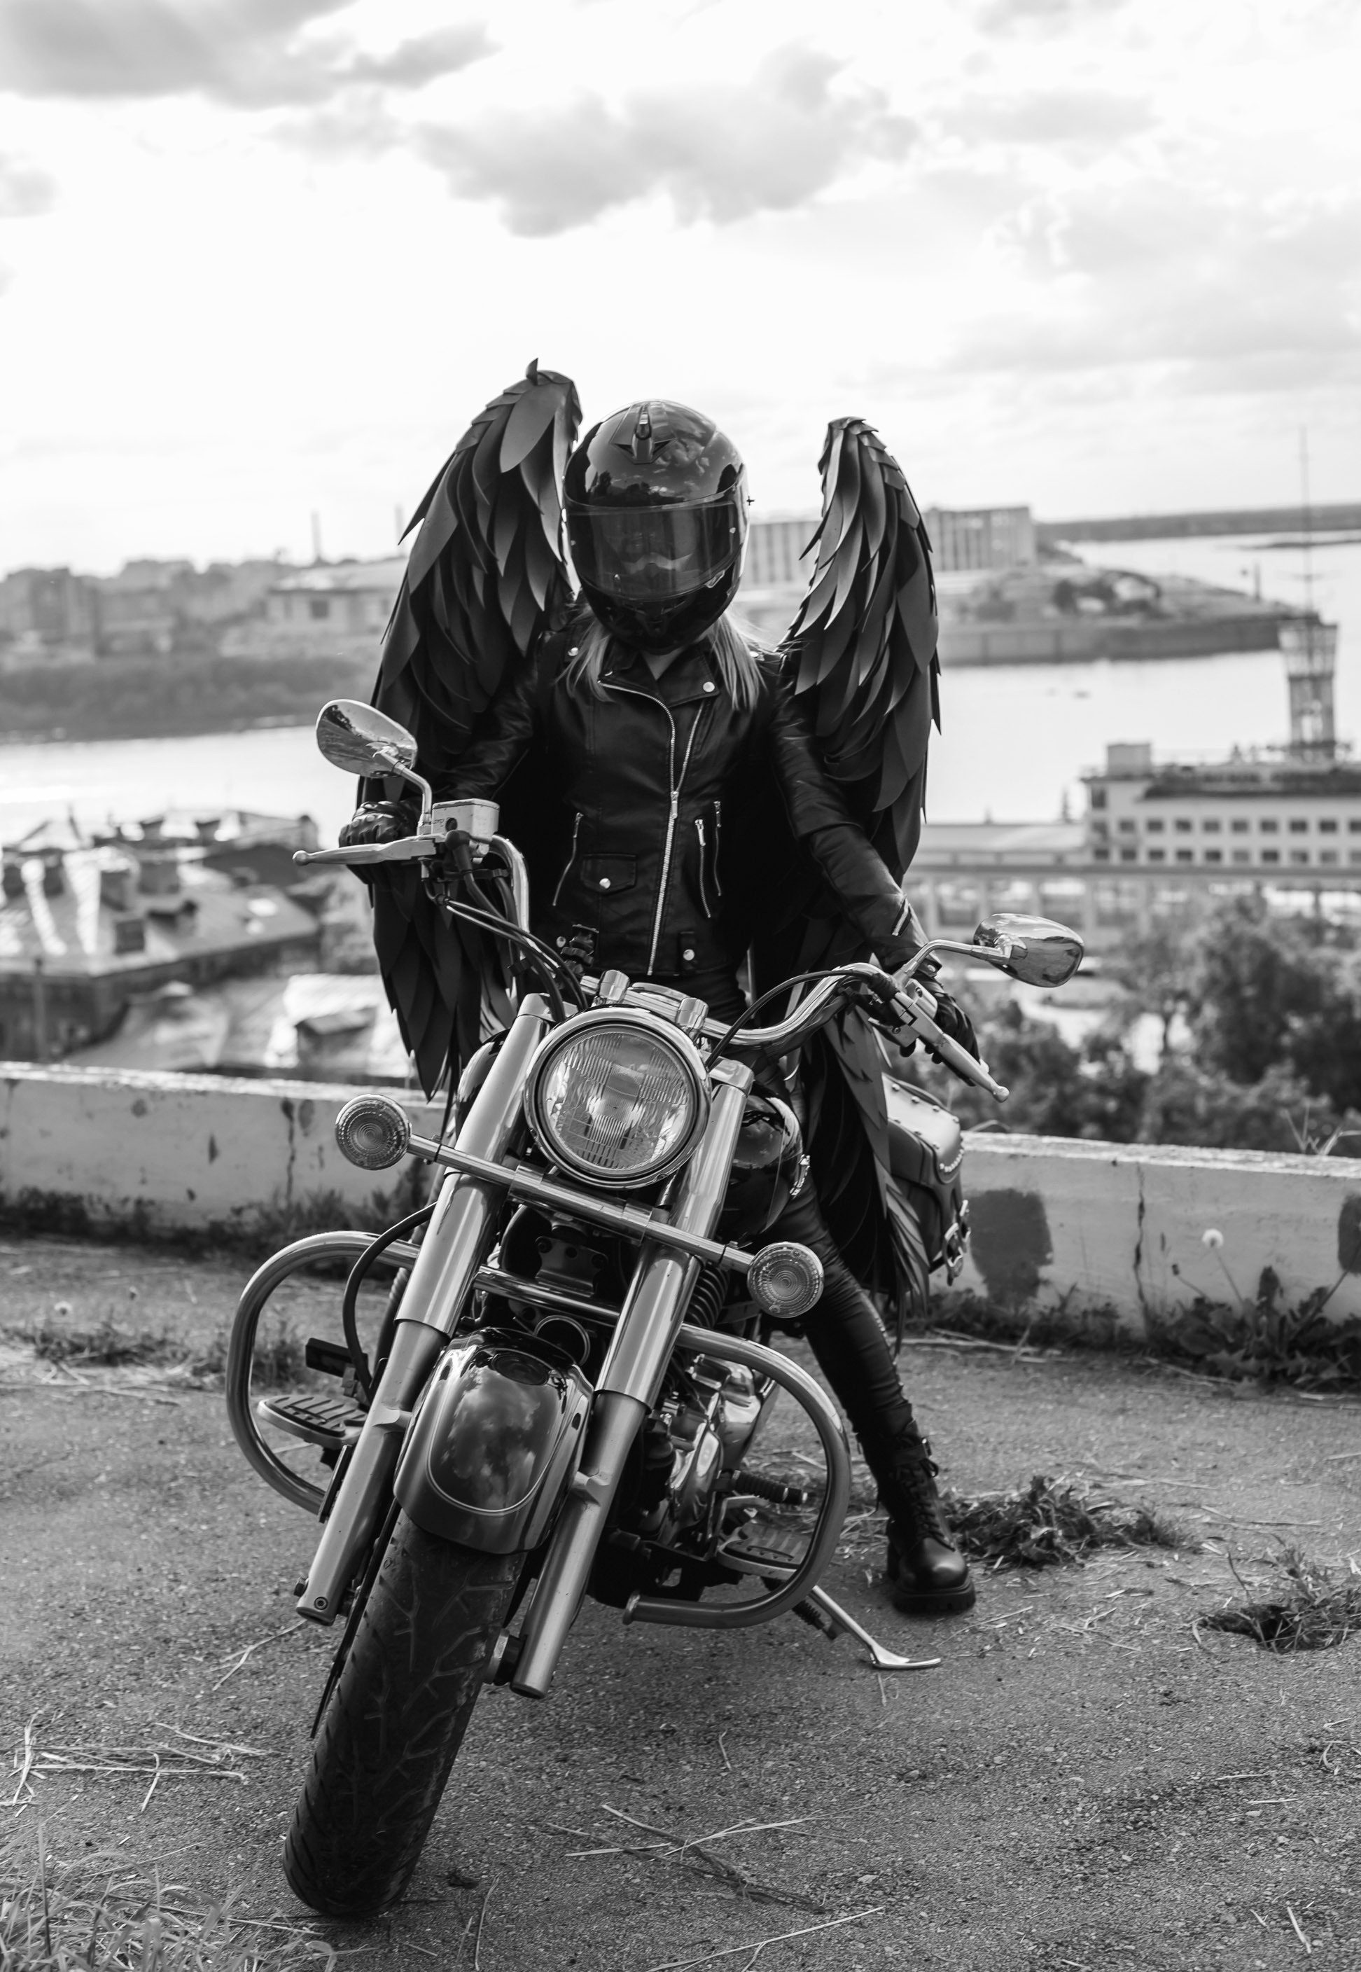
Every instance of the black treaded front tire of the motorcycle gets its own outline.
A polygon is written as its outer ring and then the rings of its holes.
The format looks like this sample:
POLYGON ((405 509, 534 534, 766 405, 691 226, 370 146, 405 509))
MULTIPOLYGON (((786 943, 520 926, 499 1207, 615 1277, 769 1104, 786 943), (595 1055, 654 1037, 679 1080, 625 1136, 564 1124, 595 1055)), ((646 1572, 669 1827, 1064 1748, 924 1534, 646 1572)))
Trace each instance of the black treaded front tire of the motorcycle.
POLYGON ((284 1850, 314 1911, 361 1917, 406 1889, 523 1566, 398 1516, 284 1850))

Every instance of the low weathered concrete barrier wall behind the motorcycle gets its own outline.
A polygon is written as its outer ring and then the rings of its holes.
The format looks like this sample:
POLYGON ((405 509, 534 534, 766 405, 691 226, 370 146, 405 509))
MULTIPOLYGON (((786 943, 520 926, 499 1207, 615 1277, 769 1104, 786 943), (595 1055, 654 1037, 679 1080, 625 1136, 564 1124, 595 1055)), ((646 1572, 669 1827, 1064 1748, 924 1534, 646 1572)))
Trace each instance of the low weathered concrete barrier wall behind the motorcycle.
MULTIPOLYGON (((353 1094, 322 1083, 227 1081, 0 1065, 0 1199, 24 1193, 61 1219, 150 1231, 251 1225, 306 1213, 323 1193, 373 1209, 396 1171, 357 1171, 335 1148, 353 1094)), ((408 1102, 416 1130, 438 1112, 408 1102)), ((1327 1313, 1361 1315, 1361 1163, 1258 1152, 967 1138, 972 1246, 957 1292, 1018 1309, 1148 1313, 1197 1294, 1253 1298, 1262 1272, 1284 1305, 1335 1290, 1327 1313), (1205 1234, 1219 1238, 1205 1242, 1205 1234), (1221 1242, 1219 1242, 1221 1240, 1221 1242)))

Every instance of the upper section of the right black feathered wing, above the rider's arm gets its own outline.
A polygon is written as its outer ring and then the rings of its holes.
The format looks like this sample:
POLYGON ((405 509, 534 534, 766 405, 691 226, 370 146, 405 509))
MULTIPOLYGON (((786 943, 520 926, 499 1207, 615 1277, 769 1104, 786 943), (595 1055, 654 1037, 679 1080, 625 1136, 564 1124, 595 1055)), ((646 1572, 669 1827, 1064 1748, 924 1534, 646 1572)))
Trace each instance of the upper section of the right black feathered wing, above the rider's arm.
POLYGON ((927 740, 939 728, 931 540, 901 467, 862 418, 834 418, 819 459, 817 562, 781 655, 823 763, 901 878, 917 850, 927 740))

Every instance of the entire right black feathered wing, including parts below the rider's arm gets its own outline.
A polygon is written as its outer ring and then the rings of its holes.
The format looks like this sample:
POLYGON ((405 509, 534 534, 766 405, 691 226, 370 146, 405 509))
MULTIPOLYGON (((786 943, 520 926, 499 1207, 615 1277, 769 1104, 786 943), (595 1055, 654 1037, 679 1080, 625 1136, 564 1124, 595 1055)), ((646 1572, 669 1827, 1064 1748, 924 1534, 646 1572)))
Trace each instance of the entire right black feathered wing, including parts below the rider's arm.
MULTIPOLYGON (((941 724, 931 540, 911 487, 862 418, 834 418, 823 458, 817 562, 779 659, 793 680, 828 779, 895 881, 921 834, 927 741, 941 724)), ((779 805, 773 803, 777 812, 779 805)), ((753 978, 763 990, 795 972, 862 958, 811 856, 783 844, 781 899, 757 913, 753 978)), ((860 1014, 809 1049, 809 1138, 826 1223, 872 1292, 925 1311, 927 1262, 911 1201, 890 1171, 882 1057, 860 1014)))

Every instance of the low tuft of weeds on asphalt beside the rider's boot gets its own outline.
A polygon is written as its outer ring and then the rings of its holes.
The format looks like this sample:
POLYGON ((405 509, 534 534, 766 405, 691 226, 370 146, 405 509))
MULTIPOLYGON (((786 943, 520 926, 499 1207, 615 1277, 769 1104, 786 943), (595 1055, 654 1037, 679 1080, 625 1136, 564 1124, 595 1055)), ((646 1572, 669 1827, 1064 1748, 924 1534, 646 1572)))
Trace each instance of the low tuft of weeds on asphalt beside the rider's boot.
POLYGON ((994 1568, 1053 1568, 1095 1548, 1180 1548, 1185 1536, 1148 1507, 1097 1499, 1081 1481, 1036 1473, 1014 1493, 943 1495, 961 1552, 994 1568))

